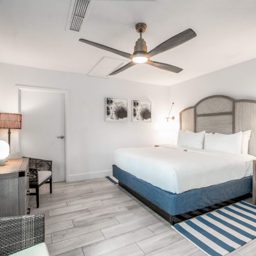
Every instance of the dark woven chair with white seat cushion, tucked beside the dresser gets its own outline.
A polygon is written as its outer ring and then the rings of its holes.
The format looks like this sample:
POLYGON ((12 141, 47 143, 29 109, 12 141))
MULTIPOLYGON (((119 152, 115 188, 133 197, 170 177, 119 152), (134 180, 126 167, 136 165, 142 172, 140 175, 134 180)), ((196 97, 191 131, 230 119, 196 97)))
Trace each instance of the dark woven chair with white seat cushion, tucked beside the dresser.
POLYGON ((39 207, 39 187, 44 183, 50 183, 50 193, 52 193, 52 161, 29 158, 29 188, 35 188, 36 207, 39 207))

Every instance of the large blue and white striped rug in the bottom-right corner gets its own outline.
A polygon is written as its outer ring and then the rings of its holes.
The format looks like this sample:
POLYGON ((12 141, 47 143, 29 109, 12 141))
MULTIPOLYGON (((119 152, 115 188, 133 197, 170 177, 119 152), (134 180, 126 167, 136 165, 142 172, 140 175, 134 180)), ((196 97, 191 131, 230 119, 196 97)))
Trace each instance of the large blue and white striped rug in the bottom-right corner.
POLYGON ((226 255, 256 238, 256 206, 241 201, 173 228, 207 255, 226 255))

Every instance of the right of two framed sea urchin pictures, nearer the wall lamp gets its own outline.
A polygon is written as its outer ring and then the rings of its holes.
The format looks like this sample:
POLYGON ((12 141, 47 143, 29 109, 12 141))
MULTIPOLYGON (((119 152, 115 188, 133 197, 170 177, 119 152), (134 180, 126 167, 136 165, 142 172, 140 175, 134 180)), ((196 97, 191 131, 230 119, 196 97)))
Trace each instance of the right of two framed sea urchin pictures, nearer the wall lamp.
POLYGON ((151 101, 133 100, 133 122, 151 122, 151 101))

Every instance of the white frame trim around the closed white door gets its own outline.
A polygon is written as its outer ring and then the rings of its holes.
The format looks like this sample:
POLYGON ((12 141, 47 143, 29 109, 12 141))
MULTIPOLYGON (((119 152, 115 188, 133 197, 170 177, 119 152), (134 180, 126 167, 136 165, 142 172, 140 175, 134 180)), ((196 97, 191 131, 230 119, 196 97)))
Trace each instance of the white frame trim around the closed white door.
MULTIPOLYGON (((17 98, 18 98, 18 113, 20 113, 20 92, 21 91, 41 91, 49 93, 60 93, 64 94, 64 123, 65 123, 65 180, 69 181, 69 90, 62 90, 56 88, 36 87, 36 86, 25 86, 23 84, 15 84, 17 87, 17 98)), ((18 149, 20 151, 20 136, 18 133, 18 149)))

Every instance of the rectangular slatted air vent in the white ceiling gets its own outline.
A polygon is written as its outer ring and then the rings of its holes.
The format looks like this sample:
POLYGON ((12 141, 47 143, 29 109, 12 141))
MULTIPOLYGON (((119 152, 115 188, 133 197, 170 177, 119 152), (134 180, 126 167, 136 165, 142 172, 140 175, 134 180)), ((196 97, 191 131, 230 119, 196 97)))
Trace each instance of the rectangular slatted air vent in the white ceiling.
POLYGON ((93 0, 73 0, 70 6, 67 30, 80 32, 86 22, 93 0))

